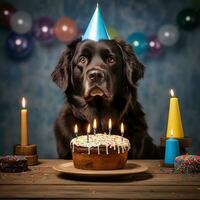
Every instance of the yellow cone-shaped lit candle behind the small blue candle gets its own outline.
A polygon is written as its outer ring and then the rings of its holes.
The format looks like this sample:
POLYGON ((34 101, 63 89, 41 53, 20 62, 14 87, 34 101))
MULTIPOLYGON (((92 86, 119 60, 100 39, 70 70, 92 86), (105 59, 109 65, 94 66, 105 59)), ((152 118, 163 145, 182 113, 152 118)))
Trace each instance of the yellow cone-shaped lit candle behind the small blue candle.
POLYGON ((181 114, 179 110, 178 98, 174 94, 174 90, 170 90, 171 98, 169 104, 169 115, 168 115, 168 125, 167 125, 167 138, 170 138, 170 131, 174 130, 174 138, 183 138, 183 127, 181 121, 181 114))

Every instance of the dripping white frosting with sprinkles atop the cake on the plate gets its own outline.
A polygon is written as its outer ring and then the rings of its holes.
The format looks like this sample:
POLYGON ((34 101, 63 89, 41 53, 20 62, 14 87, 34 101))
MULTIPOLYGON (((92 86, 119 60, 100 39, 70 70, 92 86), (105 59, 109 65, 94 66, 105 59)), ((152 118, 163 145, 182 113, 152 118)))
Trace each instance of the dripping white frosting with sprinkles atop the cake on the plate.
POLYGON ((108 135, 106 133, 89 135, 89 142, 87 141, 87 137, 87 135, 81 135, 72 139, 70 143, 72 152, 74 152, 75 146, 87 148, 88 154, 90 154, 91 148, 97 148, 98 154, 101 154, 102 147, 105 148, 106 154, 109 154, 109 149, 117 149, 118 154, 130 149, 129 140, 119 135, 108 135))

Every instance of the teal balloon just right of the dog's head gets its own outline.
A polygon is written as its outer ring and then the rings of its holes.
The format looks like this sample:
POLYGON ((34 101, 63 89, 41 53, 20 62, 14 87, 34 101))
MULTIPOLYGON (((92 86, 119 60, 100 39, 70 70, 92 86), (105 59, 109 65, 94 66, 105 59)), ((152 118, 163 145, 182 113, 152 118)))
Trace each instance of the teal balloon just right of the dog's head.
POLYGON ((133 46, 136 54, 143 54, 148 50, 148 41, 143 33, 132 33, 128 37, 128 42, 133 46))

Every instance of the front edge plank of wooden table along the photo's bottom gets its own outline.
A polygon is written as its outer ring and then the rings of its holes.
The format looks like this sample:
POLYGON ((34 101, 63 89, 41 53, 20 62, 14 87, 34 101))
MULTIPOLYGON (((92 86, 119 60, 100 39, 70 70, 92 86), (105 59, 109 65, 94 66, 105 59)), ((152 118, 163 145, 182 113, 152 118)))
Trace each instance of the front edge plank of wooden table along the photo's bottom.
POLYGON ((200 199, 196 186, 2 185, 0 198, 200 199), (19 192, 20 191, 20 192, 19 192))

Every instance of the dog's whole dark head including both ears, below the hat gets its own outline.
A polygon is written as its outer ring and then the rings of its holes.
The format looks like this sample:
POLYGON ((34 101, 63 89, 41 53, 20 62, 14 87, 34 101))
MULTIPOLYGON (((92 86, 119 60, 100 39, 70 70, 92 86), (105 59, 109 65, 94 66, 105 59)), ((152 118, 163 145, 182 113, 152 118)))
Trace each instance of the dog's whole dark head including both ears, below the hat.
POLYGON ((66 95, 110 102, 115 95, 123 95, 125 88, 135 87, 143 72, 144 66, 127 43, 85 40, 69 45, 52 77, 66 95))

